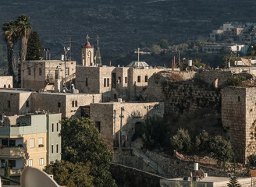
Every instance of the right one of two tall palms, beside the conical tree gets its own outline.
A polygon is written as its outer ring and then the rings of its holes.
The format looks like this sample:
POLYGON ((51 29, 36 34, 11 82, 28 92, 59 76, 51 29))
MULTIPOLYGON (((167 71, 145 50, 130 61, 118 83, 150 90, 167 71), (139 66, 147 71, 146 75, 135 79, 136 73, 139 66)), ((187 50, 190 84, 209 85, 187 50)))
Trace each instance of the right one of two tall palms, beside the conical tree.
POLYGON ((25 14, 18 16, 16 18, 17 32, 20 40, 20 61, 21 62, 26 60, 27 41, 32 31, 32 27, 31 27, 31 24, 28 22, 28 19, 30 19, 30 17, 27 17, 25 14))

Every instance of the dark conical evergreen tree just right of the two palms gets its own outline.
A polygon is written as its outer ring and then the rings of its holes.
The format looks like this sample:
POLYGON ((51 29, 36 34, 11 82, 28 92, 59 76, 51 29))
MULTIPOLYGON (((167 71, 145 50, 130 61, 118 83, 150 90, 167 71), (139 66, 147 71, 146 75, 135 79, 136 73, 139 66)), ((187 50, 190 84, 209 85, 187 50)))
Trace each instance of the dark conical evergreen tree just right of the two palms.
POLYGON ((40 60, 43 57, 42 45, 39 35, 36 31, 30 34, 27 41, 27 60, 40 60))

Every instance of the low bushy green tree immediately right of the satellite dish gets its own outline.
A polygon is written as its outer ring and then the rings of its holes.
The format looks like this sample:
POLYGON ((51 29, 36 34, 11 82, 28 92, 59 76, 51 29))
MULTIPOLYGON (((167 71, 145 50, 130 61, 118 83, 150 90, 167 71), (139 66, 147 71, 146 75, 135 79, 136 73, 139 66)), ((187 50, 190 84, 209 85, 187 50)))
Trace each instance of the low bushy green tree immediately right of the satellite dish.
POLYGON ((44 168, 48 174, 52 174, 55 181, 59 185, 69 187, 92 187, 94 186, 94 177, 90 175, 90 162, 84 164, 77 162, 73 164, 69 161, 58 161, 54 164, 49 164, 44 168))

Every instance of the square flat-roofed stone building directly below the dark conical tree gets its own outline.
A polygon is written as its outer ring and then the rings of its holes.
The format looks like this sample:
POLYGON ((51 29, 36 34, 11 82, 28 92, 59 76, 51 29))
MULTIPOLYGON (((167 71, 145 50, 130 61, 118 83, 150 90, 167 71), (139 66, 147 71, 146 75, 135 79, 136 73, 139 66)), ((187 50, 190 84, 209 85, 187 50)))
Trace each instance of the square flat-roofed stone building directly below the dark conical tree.
MULTIPOLYGON (((64 80, 62 60, 25 61, 21 63, 21 87, 35 90, 55 90, 55 80, 64 80)), ((66 61, 66 82, 74 79, 76 62, 66 61)))

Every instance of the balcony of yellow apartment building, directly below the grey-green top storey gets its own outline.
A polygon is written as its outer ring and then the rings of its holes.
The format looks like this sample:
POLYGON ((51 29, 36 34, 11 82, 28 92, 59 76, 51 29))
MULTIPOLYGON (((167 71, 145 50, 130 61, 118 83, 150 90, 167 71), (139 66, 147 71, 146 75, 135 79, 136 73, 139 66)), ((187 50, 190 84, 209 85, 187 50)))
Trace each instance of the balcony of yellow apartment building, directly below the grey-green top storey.
POLYGON ((19 158, 24 155, 24 147, 3 147, 0 149, 0 157, 19 158))

